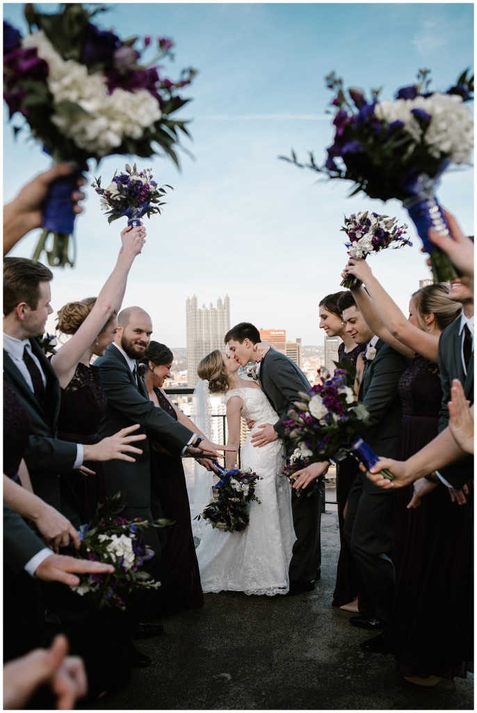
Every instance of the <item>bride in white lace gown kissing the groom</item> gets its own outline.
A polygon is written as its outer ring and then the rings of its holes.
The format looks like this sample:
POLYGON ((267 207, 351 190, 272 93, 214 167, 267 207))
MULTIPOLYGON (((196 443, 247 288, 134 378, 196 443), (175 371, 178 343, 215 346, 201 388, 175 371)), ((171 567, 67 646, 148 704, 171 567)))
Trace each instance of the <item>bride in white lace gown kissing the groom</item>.
MULTIPOLYGON (((227 444, 240 445, 241 418, 256 424, 275 423, 278 416, 255 381, 241 379, 240 364, 216 349, 199 363, 197 374, 209 381, 211 394, 226 391, 227 444)), ((251 434, 258 428, 253 426, 251 434)), ((273 596, 288 592, 288 565, 295 540, 290 486, 281 476, 285 449, 278 439, 254 448, 248 434, 241 448, 241 468, 260 476, 250 503, 250 522, 242 532, 224 532, 208 525, 197 548, 204 592, 233 590, 273 596)), ((226 468, 234 468, 236 453, 226 453, 226 468)))

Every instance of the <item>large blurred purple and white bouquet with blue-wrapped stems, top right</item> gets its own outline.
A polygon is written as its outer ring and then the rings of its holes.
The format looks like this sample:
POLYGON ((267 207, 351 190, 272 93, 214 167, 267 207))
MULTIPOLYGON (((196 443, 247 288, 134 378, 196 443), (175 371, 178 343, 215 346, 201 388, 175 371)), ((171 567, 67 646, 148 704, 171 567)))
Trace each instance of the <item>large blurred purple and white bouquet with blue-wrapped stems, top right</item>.
MULTIPOLYGON (((441 93, 429 91, 429 70, 421 70, 417 82, 399 89, 394 101, 380 101, 379 90, 370 98, 362 89, 347 90, 334 72, 326 82, 335 92, 335 138, 324 165, 315 163, 313 154, 305 165, 352 181, 351 195, 362 190, 369 198, 401 200, 431 256, 434 279, 453 279, 454 266, 429 240, 428 230, 449 235, 434 195, 436 183, 450 163, 471 160, 473 118, 464 102, 473 98, 473 75, 463 72, 441 93)), ((303 166, 294 153, 291 160, 303 166)))

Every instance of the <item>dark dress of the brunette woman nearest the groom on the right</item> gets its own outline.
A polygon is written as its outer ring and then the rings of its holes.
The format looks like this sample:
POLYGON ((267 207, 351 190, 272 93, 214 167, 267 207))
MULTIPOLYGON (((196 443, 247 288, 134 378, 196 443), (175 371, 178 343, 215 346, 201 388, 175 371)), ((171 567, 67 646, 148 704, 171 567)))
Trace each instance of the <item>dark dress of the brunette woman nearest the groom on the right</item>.
MULTIPOLYGON (((338 347, 338 361, 347 359, 353 366, 356 366, 358 356, 365 351, 366 347, 367 344, 357 344, 351 352, 345 352, 345 342, 341 342, 338 347)), ((350 545, 348 545, 343 535, 345 525, 344 513, 348 493, 359 470, 359 463, 356 458, 352 458, 352 456, 348 456, 336 466, 336 503, 338 526, 340 528, 340 555, 336 567, 336 583, 335 591, 333 592, 332 606, 340 607, 343 604, 352 602, 359 592, 360 612, 365 614, 367 613, 367 608, 369 608, 369 613, 372 613, 372 607, 370 603, 366 605, 367 595, 362 591, 364 588, 360 585, 360 574, 358 573, 355 560, 351 554, 350 545)))

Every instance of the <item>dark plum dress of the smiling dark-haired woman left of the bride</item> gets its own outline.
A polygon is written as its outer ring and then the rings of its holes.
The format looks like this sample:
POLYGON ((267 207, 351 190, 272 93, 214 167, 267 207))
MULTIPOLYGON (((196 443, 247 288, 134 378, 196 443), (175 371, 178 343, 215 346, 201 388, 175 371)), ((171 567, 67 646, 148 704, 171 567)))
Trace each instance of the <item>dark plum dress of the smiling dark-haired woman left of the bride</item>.
MULTIPOLYGON (((159 404, 169 416, 177 420, 177 414, 161 389, 154 389, 159 404)), ((164 518, 173 521, 166 528, 166 545, 161 558, 161 587, 154 593, 154 605, 158 614, 166 616, 190 607, 204 605, 192 536, 191 511, 182 458, 151 451, 155 458, 159 477, 157 494, 164 518)))

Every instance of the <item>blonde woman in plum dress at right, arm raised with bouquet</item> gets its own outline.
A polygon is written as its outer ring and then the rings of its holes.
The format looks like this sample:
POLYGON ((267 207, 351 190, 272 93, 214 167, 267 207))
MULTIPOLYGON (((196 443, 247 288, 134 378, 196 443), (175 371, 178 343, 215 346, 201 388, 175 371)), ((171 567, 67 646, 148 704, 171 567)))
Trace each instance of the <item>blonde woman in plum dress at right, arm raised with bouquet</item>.
MULTIPOLYGON (((364 260, 351 259, 346 271, 366 284, 366 290, 354 294, 374 333, 412 356, 399 381, 403 422, 398 457, 404 460, 437 434, 439 337, 462 305, 451 298, 447 285, 431 284, 412 295, 407 320, 364 260)), ((424 478, 416 481, 414 495, 412 487, 395 493, 397 588, 383 643, 404 679, 431 686, 441 678, 466 677, 472 658, 473 499, 469 493, 466 506, 458 507, 441 484, 421 501, 422 483, 429 485, 424 478)))

